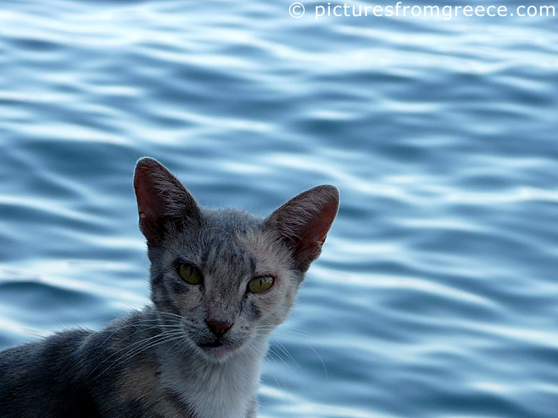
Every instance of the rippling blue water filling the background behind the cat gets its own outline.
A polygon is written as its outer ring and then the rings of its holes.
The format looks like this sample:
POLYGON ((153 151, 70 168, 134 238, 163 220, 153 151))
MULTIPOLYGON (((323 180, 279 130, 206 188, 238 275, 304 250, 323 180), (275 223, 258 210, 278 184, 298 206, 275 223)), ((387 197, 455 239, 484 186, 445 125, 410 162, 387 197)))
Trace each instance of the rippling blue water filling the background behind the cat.
POLYGON ((341 190, 261 417, 556 417, 558 17, 289 3, 1 2, 0 348, 146 302, 151 155, 206 206, 341 190))

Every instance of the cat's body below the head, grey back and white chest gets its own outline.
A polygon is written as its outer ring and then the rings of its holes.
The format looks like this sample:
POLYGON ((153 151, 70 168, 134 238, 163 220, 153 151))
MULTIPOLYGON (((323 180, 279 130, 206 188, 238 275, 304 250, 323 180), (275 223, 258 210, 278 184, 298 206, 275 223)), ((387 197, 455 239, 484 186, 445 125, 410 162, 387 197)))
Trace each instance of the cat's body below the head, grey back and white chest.
POLYGON ((135 325, 151 318, 148 307, 101 332, 67 331, 4 351, 0 417, 255 417, 259 362, 200 363, 188 350, 173 355, 173 341, 119 364, 130 341, 156 338, 156 327, 135 325))

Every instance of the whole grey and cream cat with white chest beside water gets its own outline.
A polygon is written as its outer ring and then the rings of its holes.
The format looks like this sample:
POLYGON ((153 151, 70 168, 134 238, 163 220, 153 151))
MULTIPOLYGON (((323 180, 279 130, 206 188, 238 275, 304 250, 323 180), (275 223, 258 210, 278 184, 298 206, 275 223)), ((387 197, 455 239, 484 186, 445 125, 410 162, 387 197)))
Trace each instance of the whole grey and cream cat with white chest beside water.
POLYGON ((200 207, 157 160, 134 189, 151 302, 98 332, 0 352, 3 418, 252 418, 269 334, 289 314, 338 212, 313 187, 266 219, 200 207))

